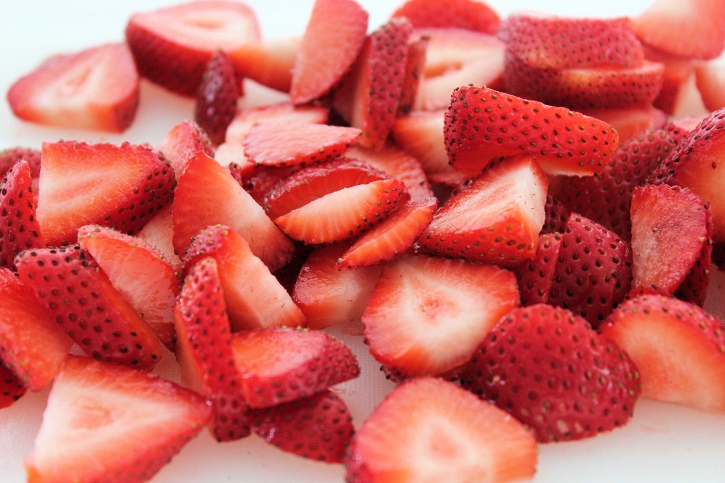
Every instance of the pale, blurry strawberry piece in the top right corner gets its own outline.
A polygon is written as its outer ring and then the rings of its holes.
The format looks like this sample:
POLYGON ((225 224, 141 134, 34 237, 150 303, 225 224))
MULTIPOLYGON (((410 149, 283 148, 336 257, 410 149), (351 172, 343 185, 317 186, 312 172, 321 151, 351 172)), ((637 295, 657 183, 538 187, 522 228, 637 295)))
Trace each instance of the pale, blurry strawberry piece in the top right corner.
POLYGON ((709 0, 655 0, 632 18, 637 37, 674 57, 712 59, 725 46, 725 5, 709 0))

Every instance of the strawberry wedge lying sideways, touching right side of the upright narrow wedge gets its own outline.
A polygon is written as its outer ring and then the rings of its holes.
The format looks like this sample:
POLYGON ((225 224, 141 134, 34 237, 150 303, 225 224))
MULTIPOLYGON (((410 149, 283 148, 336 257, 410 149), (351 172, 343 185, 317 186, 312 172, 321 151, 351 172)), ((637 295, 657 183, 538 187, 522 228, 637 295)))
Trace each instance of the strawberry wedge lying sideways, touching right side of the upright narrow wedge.
POLYGON ((309 397, 360 374, 352 351, 321 331, 241 331, 232 347, 240 391, 252 408, 309 397))

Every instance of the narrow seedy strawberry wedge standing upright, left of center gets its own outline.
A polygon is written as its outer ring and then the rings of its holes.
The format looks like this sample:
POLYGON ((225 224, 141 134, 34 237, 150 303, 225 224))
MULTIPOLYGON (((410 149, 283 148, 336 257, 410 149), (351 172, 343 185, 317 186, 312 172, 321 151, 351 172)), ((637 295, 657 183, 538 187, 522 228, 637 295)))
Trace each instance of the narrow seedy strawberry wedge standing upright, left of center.
POLYGON ((248 436, 247 404, 234 368, 231 328, 214 259, 204 258, 189 271, 174 306, 174 324, 182 378, 211 403, 214 438, 224 442, 248 436))

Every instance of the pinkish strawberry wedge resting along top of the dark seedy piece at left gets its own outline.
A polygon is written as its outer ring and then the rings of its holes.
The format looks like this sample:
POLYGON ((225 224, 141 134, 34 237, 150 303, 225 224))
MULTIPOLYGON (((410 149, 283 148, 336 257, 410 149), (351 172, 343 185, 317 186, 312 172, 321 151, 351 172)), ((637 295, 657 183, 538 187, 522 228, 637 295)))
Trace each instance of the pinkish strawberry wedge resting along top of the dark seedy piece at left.
POLYGON ((174 303, 179 279, 174 267, 141 238, 98 225, 78 230, 78 244, 108 275, 111 285, 174 350, 174 303))

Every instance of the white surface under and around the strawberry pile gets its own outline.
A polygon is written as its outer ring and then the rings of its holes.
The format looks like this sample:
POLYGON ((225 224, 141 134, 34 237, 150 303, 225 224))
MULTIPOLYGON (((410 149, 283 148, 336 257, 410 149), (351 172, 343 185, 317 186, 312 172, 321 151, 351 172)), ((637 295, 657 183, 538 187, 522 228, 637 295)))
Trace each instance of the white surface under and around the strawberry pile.
MULTIPOLYGON (((444 1, 444 0, 442 0, 444 1)), ((47 55, 118 41, 131 12, 173 2, 159 0, 3 1, 0 5, 0 148, 15 145, 39 147, 42 141, 149 142, 192 116, 190 101, 181 100, 144 83, 136 122, 119 136, 68 131, 24 124, 13 118, 4 93, 12 81, 32 69, 47 55)), ((311 0, 248 0, 255 8, 267 37, 300 34, 311 0)), ((567 0, 490 0, 505 15, 512 9, 545 10, 567 15, 615 16, 636 14, 645 0, 571 2, 567 0)), ((371 12, 371 28, 380 25, 398 2, 361 0, 371 12)), ((339 332, 337 332, 339 335, 339 332)), ((358 354, 359 379, 338 386, 359 425, 391 383, 378 371, 360 337, 343 337, 358 354)), ((170 358, 168 358, 170 359, 170 358)), ((169 362, 166 363, 170 365, 169 362)), ((163 370, 163 369, 162 369, 163 370)), ((173 372, 173 366, 170 369, 173 372)), ((11 408, 0 411, 0 481, 24 481, 23 458, 32 448, 47 392, 28 394, 11 408)), ((635 416, 622 429, 586 441, 541 446, 536 482, 668 482, 725 480, 725 415, 640 401, 635 416)), ((156 482, 341 482, 340 465, 326 465, 296 458, 267 446, 254 436, 217 444, 203 432, 154 479, 156 482)))

